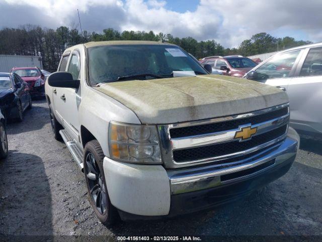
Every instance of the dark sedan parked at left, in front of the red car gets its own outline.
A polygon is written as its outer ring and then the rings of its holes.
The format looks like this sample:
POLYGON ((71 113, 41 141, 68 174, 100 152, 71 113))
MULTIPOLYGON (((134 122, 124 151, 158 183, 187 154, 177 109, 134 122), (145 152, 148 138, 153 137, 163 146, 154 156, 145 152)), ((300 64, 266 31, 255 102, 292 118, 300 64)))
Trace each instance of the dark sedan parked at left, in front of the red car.
POLYGON ((0 73, 0 108, 10 119, 23 120, 23 111, 32 107, 27 83, 16 73, 0 73))

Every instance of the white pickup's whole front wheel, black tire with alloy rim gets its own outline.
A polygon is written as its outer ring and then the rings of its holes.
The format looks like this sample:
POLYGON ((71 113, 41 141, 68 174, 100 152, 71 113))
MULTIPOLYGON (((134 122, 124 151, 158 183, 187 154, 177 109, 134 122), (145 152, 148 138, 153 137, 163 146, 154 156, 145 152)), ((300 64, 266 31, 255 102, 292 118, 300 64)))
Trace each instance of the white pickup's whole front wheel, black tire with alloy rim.
POLYGON ((84 174, 90 203, 97 217, 105 226, 118 219, 116 208, 111 204, 103 169, 104 153, 97 140, 88 142, 84 149, 84 174))

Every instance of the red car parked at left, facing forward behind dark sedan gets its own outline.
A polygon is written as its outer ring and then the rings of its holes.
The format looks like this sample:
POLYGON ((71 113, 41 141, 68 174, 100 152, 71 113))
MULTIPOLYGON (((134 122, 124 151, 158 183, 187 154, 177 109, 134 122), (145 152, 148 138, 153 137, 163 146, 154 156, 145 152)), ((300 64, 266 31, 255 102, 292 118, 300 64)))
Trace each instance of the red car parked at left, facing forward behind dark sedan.
POLYGON ((45 96, 45 75, 38 67, 14 67, 12 73, 27 82, 32 97, 45 96))

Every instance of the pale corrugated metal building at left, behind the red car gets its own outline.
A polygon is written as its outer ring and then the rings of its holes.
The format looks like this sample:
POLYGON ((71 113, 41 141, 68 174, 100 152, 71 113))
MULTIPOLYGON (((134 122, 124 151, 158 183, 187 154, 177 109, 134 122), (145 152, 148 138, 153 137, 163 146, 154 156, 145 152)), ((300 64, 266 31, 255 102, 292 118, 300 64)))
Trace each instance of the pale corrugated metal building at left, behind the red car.
POLYGON ((13 67, 42 68, 41 56, 0 54, 0 72, 10 72, 13 67))

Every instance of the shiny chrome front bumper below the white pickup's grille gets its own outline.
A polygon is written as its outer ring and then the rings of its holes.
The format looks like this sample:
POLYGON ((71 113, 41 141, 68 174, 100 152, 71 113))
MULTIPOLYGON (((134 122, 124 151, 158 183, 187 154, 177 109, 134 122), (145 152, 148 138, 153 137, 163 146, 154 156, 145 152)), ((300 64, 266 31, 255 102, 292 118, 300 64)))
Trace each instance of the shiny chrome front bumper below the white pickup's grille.
POLYGON ((183 194, 211 189, 244 180, 295 159, 299 136, 289 128, 286 138, 254 156, 227 166, 207 165, 188 169, 168 169, 171 194, 183 194))

